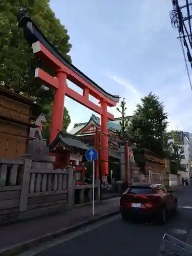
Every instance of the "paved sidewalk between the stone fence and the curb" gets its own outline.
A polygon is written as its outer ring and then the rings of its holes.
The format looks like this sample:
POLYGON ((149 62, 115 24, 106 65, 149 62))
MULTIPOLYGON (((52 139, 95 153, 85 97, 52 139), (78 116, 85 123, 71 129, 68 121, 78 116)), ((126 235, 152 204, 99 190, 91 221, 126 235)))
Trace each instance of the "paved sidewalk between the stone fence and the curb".
POLYGON ((118 211, 119 198, 112 198, 95 204, 95 217, 92 216, 92 205, 88 205, 63 212, 62 214, 43 216, 0 227, 0 255, 1 250, 5 247, 23 244, 39 237, 48 237, 61 229, 88 221, 92 222, 104 218, 106 215, 110 216, 118 213, 118 211))

